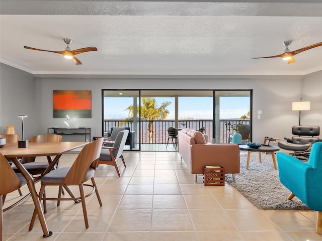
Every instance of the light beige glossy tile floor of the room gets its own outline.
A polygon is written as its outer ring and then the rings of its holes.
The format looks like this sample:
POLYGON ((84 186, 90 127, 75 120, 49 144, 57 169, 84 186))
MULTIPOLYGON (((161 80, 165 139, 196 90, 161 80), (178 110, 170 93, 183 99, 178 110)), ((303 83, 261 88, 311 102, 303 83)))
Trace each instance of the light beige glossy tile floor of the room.
MULTIPOLYGON (((121 177, 107 165, 96 172, 103 206, 95 195, 87 198, 88 229, 81 204, 62 201, 57 207, 52 201, 45 217, 53 235, 42 238, 38 220, 28 231, 33 212, 28 199, 4 213, 4 240, 322 240, 314 211, 259 210, 227 183, 205 187, 202 176, 195 183, 177 152, 124 154, 121 177)), ((76 155, 63 155, 60 166, 71 165, 76 155)), ((55 188, 46 192, 57 195, 55 188)), ((17 195, 8 195, 5 206, 17 195)))

